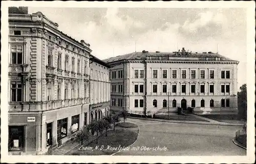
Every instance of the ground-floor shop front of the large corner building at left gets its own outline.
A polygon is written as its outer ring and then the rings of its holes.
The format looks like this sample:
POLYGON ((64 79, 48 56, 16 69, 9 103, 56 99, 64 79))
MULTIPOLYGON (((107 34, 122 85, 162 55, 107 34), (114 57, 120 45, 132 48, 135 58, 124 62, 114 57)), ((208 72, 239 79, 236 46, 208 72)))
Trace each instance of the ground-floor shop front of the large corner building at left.
POLYGON ((89 104, 45 112, 9 112, 9 154, 44 154, 89 124, 89 104))

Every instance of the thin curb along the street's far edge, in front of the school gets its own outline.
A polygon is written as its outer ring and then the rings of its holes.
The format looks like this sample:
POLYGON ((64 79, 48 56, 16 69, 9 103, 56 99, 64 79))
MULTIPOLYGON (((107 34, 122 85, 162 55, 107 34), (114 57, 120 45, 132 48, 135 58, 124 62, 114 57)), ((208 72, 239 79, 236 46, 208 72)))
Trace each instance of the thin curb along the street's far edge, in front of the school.
MULTIPOLYGON (((128 117, 131 119, 138 119, 138 120, 145 120, 145 119, 141 119, 141 118, 136 118, 136 117, 128 117)), ((243 126, 243 124, 231 124, 231 123, 210 123, 210 122, 196 122, 196 121, 173 121, 173 120, 169 120, 169 121, 165 121, 165 120, 158 120, 158 119, 147 119, 150 121, 158 121, 158 122, 169 122, 169 123, 182 123, 182 124, 201 124, 201 125, 224 125, 224 126, 243 126)))

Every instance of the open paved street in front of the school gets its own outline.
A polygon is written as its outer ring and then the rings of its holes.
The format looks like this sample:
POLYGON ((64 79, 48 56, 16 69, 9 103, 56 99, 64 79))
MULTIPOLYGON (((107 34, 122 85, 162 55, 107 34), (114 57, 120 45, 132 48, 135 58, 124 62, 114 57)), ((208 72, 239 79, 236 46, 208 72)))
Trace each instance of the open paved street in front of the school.
POLYGON ((246 155, 232 138, 241 127, 166 123, 127 119, 139 126, 138 140, 129 151, 116 155, 246 155), (145 147, 166 147, 167 151, 143 151, 145 147), (138 148, 138 150, 131 150, 138 148))

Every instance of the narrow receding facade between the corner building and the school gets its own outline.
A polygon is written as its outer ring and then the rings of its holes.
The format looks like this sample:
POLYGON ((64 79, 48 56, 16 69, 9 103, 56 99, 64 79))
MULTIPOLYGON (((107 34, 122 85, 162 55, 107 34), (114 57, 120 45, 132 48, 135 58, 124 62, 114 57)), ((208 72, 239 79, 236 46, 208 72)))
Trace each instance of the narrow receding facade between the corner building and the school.
POLYGON ((90 58, 90 122, 110 114, 110 68, 91 55, 90 58))

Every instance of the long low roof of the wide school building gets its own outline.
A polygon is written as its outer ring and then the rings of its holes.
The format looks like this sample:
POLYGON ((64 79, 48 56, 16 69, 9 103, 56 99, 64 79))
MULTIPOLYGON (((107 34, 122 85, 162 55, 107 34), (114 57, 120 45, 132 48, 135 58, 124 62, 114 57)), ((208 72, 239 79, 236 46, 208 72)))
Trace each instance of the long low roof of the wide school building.
POLYGON ((174 59, 171 60, 178 60, 176 58, 187 58, 189 61, 189 58, 220 58, 220 61, 234 61, 229 58, 226 58, 224 56, 221 56, 218 53, 212 53, 212 52, 204 52, 204 53, 188 53, 187 55, 181 55, 178 54, 178 52, 132 52, 129 54, 124 54, 122 56, 117 56, 109 59, 103 60, 106 63, 111 63, 111 62, 116 62, 116 61, 121 61, 121 60, 146 60, 147 57, 173 57, 174 59))

